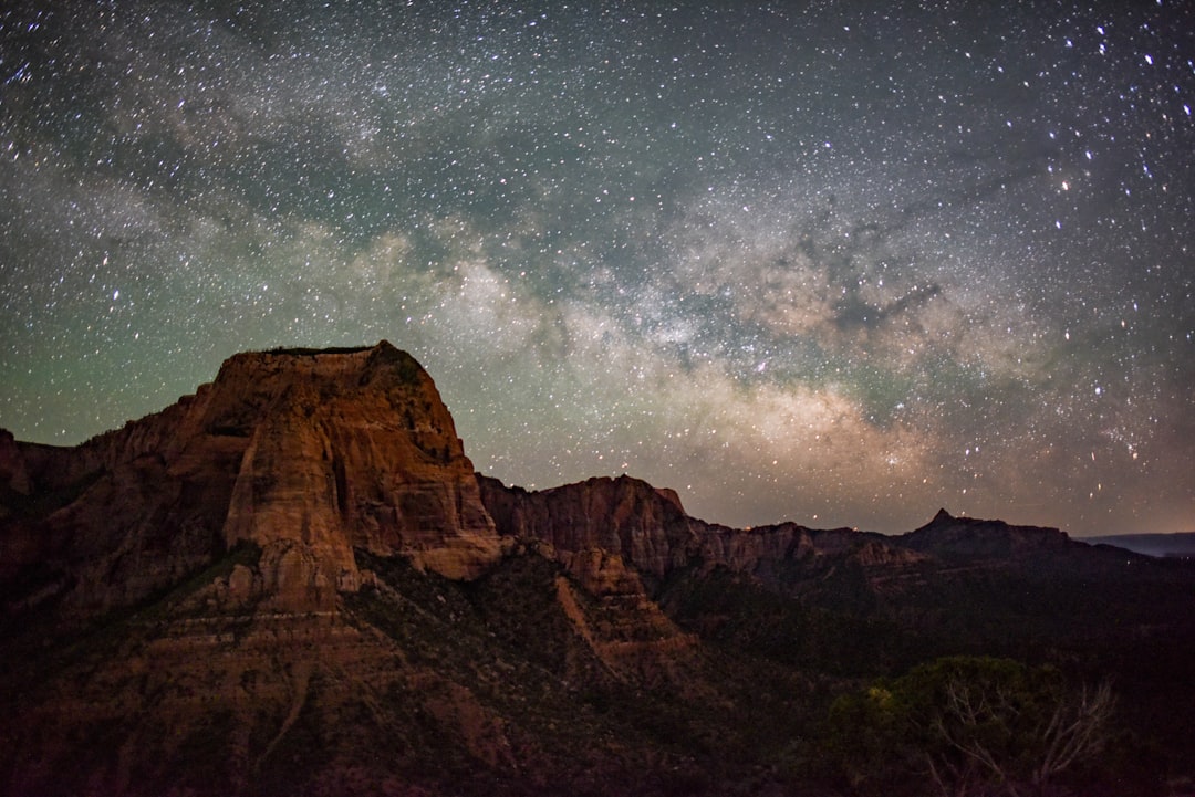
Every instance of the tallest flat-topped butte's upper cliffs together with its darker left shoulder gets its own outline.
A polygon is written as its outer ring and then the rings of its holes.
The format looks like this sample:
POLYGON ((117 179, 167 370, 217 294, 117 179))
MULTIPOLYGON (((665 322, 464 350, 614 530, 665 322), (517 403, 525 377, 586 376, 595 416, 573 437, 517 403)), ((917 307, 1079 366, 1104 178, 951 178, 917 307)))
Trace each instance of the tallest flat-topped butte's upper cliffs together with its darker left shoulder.
POLYGON ((0 440, 5 574, 97 613, 238 544, 255 588, 329 608, 362 581, 354 548, 472 577, 502 540, 435 384, 388 342, 238 354, 166 410, 74 449, 0 440))

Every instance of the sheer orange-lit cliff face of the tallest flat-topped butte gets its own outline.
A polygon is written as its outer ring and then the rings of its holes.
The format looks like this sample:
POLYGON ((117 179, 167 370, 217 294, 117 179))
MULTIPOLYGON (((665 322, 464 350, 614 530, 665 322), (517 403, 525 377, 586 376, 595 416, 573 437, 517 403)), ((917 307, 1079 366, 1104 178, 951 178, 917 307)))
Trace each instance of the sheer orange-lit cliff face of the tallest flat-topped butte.
POLYGON ((268 572, 276 563, 268 588, 356 591, 354 548, 454 579, 501 556, 452 416, 409 354, 386 342, 243 354, 221 383, 207 430, 247 437, 222 533, 261 545, 268 572))

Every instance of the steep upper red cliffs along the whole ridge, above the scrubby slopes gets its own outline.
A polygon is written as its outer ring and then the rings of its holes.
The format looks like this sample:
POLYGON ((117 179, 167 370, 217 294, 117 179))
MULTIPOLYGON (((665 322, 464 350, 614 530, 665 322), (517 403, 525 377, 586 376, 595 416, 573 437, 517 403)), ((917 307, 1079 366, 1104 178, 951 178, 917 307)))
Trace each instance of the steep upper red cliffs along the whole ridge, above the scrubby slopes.
POLYGON ((594 594, 646 597, 678 569, 717 567, 793 592, 797 566, 846 557, 878 582, 976 529, 958 520, 948 539, 939 515, 907 539, 735 530, 627 476, 508 488, 474 475, 431 378, 386 341, 238 354, 195 395, 73 449, 5 433, 0 496, 13 608, 73 617, 134 605, 241 544, 261 560, 229 574, 227 595, 329 611, 370 579, 355 550, 476 579, 534 540, 594 594))

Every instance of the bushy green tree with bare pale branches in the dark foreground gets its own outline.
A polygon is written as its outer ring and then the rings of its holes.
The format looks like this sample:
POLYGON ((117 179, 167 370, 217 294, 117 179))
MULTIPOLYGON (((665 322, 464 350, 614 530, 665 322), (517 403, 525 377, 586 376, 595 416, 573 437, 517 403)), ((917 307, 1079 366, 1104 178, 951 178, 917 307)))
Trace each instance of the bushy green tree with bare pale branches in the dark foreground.
POLYGON ((1053 667, 955 656, 841 698, 827 739, 864 742, 836 750, 856 791, 920 771, 945 797, 1042 796, 1099 753, 1113 709, 1108 684, 1074 687, 1053 667))

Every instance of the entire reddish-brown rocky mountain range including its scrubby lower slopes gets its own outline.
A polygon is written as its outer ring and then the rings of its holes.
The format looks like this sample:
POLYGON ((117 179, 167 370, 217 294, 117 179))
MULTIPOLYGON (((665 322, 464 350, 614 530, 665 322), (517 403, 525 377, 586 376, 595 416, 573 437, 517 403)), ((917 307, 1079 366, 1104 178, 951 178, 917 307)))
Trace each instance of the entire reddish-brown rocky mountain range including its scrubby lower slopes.
POLYGON ((0 433, 0 793, 808 793, 835 692, 936 655, 1110 668, 1147 727, 1193 583, 945 512, 734 530, 626 476, 505 487, 385 341, 238 354, 80 446, 0 433))

